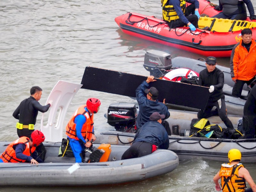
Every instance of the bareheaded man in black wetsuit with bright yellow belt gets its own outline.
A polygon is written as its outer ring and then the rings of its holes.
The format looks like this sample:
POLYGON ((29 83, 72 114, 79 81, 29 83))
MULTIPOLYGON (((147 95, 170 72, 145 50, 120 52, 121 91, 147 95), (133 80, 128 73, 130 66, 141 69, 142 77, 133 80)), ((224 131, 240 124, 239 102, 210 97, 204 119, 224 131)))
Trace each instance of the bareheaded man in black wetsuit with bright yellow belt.
POLYGON ((34 131, 34 125, 36 124, 36 117, 38 111, 44 113, 48 111, 51 103, 42 106, 38 102, 42 96, 42 89, 38 86, 34 86, 30 89, 30 97, 21 101, 18 108, 13 112, 12 116, 15 119, 19 119, 19 123, 16 124, 17 134, 19 137, 31 137, 31 133, 34 131))

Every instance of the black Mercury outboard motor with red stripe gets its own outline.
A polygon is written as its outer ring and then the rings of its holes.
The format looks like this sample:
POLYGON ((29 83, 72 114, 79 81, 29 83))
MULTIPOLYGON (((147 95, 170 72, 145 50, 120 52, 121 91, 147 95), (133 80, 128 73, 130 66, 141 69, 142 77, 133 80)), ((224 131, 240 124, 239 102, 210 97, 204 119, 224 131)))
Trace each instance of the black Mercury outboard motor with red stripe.
POLYGON ((138 116, 137 108, 132 103, 112 103, 108 107, 107 123, 116 131, 135 132, 135 122, 138 116))

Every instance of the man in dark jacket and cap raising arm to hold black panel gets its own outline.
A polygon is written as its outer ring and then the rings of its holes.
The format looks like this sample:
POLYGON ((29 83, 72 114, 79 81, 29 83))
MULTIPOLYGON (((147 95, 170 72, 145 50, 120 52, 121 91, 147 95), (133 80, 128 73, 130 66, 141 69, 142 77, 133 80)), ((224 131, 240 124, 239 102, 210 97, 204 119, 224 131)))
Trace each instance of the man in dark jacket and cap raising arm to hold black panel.
POLYGON ((160 114, 164 114, 164 119, 170 117, 170 112, 168 111, 168 108, 165 106, 164 102, 162 103, 157 100, 159 94, 157 89, 155 87, 150 87, 148 89, 149 83, 153 81, 156 81, 154 76, 148 76, 147 80, 143 81, 136 89, 136 99, 140 109, 136 120, 137 131, 142 125, 149 121, 149 116, 155 111, 160 114), (144 93, 147 95, 145 96, 144 93))

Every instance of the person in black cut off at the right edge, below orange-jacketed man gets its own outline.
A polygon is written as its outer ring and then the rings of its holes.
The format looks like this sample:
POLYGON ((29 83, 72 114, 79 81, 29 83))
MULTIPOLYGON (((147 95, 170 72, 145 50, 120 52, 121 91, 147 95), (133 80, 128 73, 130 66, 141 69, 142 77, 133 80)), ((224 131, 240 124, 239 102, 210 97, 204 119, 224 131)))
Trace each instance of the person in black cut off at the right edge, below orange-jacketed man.
POLYGON ((253 86, 244 104, 243 129, 245 139, 253 139, 255 137, 255 124, 256 86, 253 86))

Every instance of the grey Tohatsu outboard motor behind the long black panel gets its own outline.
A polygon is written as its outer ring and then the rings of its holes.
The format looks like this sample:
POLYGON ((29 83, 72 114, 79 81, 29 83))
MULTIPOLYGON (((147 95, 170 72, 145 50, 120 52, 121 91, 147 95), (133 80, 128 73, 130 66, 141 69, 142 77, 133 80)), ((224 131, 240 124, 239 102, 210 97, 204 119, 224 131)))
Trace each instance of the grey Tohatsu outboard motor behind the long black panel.
POLYGON ((158 50, 148 50, 145 53, 144 68, 150 72, 150 75, 159 78, 166 74, 165 70, 172 68, 171 55, 158 50))

